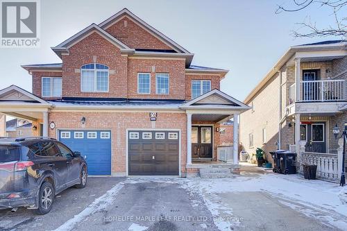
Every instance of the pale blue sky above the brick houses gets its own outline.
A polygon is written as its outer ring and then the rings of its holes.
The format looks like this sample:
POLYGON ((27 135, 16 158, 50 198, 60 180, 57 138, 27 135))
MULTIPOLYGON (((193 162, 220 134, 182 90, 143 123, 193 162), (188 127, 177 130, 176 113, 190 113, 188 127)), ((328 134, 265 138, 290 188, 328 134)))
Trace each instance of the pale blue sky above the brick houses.
POLYGON ((61 62, 51 46, 128 8, 194 53, 192 64, 230 70, 221 90, 244 100, 289 46, 339 39, 294 39, 296 22, 310 15, 317 25, 326 26, 332 22, 331 12, 314 6, 276 15, 276 6, 284 2, 290 1, 44 0, 40 49, 0 48, 0 88, 18 85, 31 92, 31 76, 20 65, 61 62))

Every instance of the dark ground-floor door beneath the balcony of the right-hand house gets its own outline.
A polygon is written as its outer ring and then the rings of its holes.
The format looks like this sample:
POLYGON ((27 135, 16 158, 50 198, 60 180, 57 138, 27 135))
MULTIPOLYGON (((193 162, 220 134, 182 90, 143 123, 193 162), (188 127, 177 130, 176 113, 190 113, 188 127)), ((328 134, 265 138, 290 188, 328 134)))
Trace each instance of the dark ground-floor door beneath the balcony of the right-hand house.
POLYGON ((326 135, 325 135, 325 122, 313 122, 305 125, 307 134, 307 143, 305 151, 312 153, 325 153, 326 152, 326 135))

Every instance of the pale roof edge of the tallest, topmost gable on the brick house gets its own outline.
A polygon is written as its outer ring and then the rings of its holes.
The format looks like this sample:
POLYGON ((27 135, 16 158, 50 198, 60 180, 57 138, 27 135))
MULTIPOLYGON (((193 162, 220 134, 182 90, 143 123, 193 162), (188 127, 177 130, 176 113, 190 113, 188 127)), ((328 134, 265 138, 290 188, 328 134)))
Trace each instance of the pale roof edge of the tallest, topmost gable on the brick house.
POLYGON ((144 28, 144 30, 148 31, 149 33, 154 35, 156 38, 158 38, 159 40, 161 40, 162 42, 164 42, 168 46, 172 47, 172 49, 174 49, 178 53, 190 53, 189 51, 184 49, 183 46, 180 46, 179 44, 174 42, 174 40, 171 40, 171 38, 167 37, 166 35, 164 35, 160 31, 153 28, 153 26, 150 26, 149 24, 144 22, 142 19, 140 19, 139 17, 134 15, 133 12, 131 12, 127 8, 124 8, 123 10, 117 12, 115 15, 112 15, 111 17, 109 17, 105 21, 101 22, 101 24, 99 24, 99 26, 103 29, 106 29, 106 28, 110 27, 112 24, 115 24, 119 19, 121 19, 124 16, 127 16, 130 19, 132 19, 134 22, 137 22, 137 24, 139 26, 141 26, 142 28, 144 28))

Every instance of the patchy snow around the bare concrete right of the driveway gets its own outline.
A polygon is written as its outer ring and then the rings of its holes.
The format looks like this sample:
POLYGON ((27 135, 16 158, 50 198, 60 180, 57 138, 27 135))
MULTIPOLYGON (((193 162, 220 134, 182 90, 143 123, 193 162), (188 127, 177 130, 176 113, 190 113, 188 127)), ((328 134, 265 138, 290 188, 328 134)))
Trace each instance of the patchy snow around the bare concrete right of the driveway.
MULTIPOLYGON (((347 230, 347 205, 339 200, 341 187, 335 183, 305 180, 299 175, 248 172, 244 176, 227 179, 189 179, 183 187, 201 194, 210 212, 216 217, 223 214, 232 216, 233 212, 232 207, 221 203, 221 198, 215 195, 262 191, 305 216, 319 219, 330 227, 347 230)), ((223 219, 216 219, 215 223, 220 230, 230 230, 230 225, 240 225, 239 221, 223 219)))

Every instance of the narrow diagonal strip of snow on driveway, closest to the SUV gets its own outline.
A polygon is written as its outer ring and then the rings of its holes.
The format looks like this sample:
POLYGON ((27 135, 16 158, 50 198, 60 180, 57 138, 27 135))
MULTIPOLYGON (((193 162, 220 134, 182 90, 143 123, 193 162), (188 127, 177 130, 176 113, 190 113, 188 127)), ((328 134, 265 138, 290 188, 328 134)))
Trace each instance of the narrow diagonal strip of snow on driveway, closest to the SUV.
POLYGON ((106 209, 109 205, 112 204, 113 200, 115 200, 117 194, 119 193, 119 190, 121 190, 121 188, 123 187, 123 182, 115 185, 114 187, 112 187, 112 189, 103 194, 103 196, 96 198, 94 202, 86 207, 82 212, 69 219, 69 221, 65 222, 63 225, 60 225, 60 227, 58 227, 55 231, 72 230, 75 225, 77 225, 81 221, 85 221, 91 214, 106 209))

